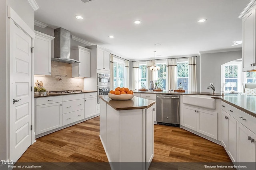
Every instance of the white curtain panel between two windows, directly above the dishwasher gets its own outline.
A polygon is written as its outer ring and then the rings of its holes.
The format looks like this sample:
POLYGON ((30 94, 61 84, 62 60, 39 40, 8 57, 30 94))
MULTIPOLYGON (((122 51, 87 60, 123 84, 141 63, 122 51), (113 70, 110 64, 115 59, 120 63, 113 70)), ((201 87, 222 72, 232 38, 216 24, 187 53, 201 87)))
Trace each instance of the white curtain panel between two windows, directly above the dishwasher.
POLYGON ((177 89, 177 59, 166 61, 166 90, 177 89))

